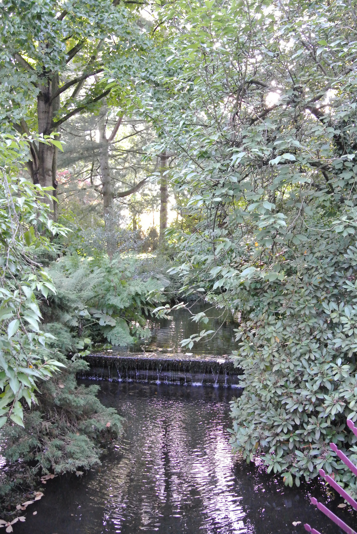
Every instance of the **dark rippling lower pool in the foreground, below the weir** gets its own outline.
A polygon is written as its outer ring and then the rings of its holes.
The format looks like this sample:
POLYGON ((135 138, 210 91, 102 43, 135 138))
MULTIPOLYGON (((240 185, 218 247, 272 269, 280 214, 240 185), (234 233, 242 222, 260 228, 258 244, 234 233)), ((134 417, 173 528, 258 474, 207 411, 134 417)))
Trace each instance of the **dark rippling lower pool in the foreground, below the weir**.
MULTIPOLYGON (((285 488, 232 456, 231 396, 229 389, 102 382, 102 402, 126 417, 125 436, 100 472, 49 481, 15 534, 297 534, 305 522, 339 533, 310 504, 309 488, 285 488)), ((338 502, 329 506, 356 526, 338 502)))

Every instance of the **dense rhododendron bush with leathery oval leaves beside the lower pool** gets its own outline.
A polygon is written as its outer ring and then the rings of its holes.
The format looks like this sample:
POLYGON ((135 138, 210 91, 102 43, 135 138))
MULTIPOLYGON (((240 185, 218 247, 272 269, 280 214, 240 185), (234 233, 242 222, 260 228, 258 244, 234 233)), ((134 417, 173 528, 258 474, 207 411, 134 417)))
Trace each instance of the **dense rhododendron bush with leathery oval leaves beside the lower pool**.
POLYGON ((354 486, 329 443, 357 453, 346 426, 357 420, 356 244, 310 232, 294 248, 276 268, 281 280, 253 278, 237 295, 244 391, 232 402, 231 442, 248 461, 263 455, 289 485, 334 468, 335 480, 354 486))

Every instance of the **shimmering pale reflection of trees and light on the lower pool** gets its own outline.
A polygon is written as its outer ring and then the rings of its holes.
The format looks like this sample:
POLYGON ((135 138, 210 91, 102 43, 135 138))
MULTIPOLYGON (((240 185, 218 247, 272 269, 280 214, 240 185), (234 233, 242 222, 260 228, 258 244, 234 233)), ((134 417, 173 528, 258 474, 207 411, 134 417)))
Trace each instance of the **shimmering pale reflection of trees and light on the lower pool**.
POLYGON ((133 415, 126 430, 133 446, 125 444, 106 476, 113 502, 105 515, 116 532, 247 532, 232 493, 226 404, 159 397, 121 408, 133 415))

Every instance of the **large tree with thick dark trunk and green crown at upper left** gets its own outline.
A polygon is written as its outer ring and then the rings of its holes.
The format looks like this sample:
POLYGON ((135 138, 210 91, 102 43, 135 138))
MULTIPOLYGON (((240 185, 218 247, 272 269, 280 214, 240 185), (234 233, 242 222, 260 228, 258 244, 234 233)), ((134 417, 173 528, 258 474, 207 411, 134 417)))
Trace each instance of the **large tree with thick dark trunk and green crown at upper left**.
MULTIPOLYGON (((10 123, 20 133, 49 136, 70 117, 97 109, 111 92, 102 73, 113 58, 121 69, 124 99, 125 77, 148 42, 137 25, 134 2, 5 0, 2 5, 4 128, 10 123)), ((56 197, 57 143, 33 140, 29 148, 33 183, 54 187, 56 197)), ((50 205, 49 198, 44 200, 50 205)), ((55 203, 53 209, 55 217, 55 203)))

